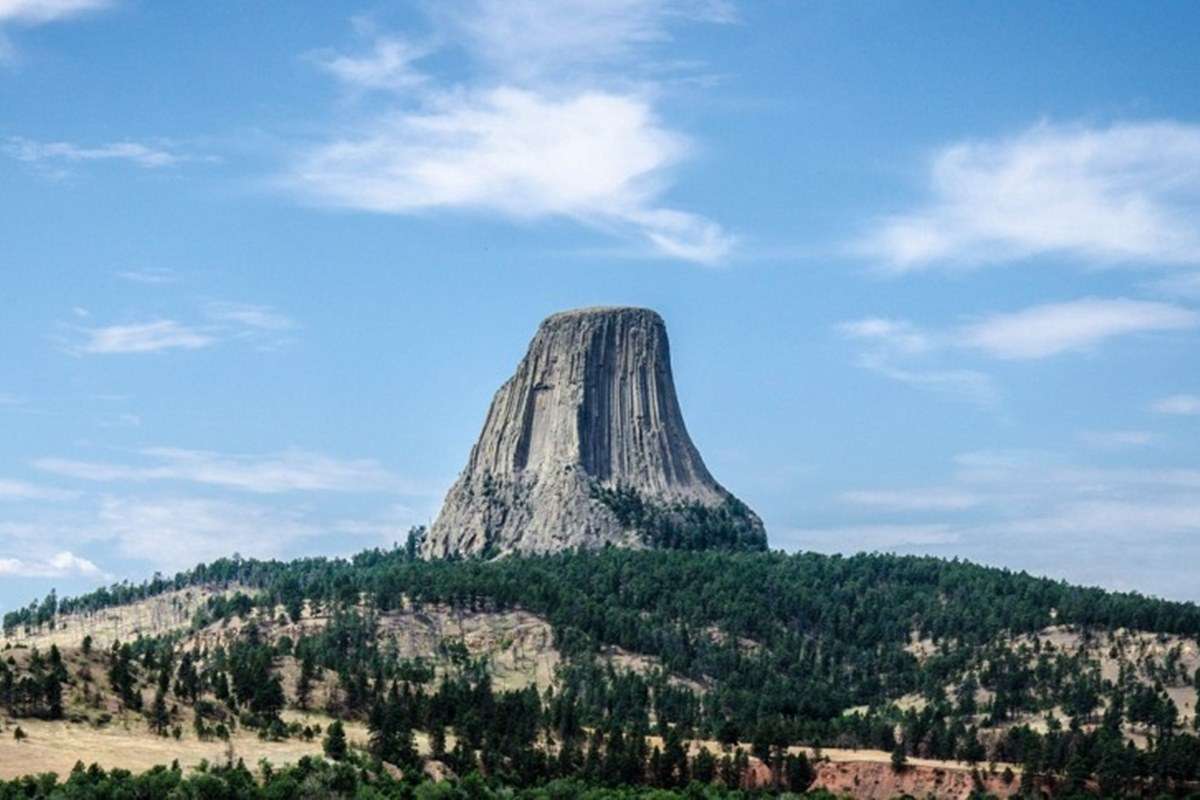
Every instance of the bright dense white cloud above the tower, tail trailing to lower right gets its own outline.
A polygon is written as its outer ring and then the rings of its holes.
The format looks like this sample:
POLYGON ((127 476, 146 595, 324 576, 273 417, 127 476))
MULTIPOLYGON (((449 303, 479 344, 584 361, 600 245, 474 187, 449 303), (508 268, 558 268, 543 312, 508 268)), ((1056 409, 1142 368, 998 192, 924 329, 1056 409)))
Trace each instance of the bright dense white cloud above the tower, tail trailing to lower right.
POLYGON ((427 113, 391 114, 365 136, 310 150, 289 184, 323 204, 382 213, 569 217, 713 263, 732 237, 710 221, 656 205, 662 172, 688 152, 643 98, 587 92, 556 100, 500 88, 445 97, 427 113))

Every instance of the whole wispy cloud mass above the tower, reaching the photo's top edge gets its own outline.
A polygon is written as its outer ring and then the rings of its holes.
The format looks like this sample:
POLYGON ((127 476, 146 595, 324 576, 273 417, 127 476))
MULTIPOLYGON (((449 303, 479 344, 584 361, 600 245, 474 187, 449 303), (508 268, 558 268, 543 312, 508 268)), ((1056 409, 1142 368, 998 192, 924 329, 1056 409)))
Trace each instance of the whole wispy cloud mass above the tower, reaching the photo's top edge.
MULTIPOLYGON (((694 151, 655 107, 640 53, 682 20, 728 22, 724 4, 476 0, 434 14, 474 65, 446 84, 419 71, 431 48, 378 37, 326 58, 354 91, 397 92, 353 130, 302 150, 282 184, 308 200, 378 213, 475 211, 569 218, 647 241, 654 252, 720 261, 733 237, 661 201, 694 151)), ((438 37, 434 37, 438 38, 438 37)))

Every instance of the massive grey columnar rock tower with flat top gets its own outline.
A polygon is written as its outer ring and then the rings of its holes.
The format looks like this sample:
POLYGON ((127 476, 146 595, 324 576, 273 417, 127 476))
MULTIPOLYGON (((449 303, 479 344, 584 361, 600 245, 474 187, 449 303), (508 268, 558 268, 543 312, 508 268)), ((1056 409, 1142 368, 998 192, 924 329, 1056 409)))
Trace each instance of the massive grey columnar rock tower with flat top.
POLYGON ((581 308, 539 326, 422 553, 572 548, 762 549, 762 522, 688 435, 662 318, 581 308))

